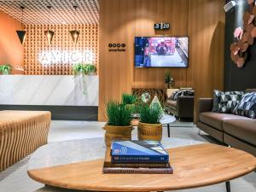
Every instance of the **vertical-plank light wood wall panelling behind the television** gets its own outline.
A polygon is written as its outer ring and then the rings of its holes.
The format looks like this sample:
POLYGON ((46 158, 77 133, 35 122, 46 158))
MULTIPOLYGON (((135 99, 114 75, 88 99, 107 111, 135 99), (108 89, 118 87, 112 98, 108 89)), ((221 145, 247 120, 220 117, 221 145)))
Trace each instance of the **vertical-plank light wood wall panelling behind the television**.
MULTIPOLYGON (((105 103, 131 88, 163 88, 170 71, 176 87, 193 87, 195 95, 223 89, 224 0, 108 0, 100 3, 99 120, 105 103), (155 32, 153 24, 171 29, 155 32), (134 37, 189 36, 189 68, 134 68, 134 37), (125 52, 108 52, 109 43, 125 43, 125 52)), ((196 99, 195 99, 196 100, 196 99)), ((196 110, 196 108, 195 108, 196 110)))

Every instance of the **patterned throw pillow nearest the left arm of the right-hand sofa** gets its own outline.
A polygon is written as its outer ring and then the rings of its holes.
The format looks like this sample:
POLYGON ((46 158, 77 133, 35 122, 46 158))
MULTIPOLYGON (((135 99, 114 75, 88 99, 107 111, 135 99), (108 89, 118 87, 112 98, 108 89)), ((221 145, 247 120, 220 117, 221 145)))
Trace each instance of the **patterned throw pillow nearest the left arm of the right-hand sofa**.
POLYGON ((241 101, 244 95, 243 91, 227 91, 220 90, 213 91, 213 112, 218 113, 232 113, 236 105, 241 101))

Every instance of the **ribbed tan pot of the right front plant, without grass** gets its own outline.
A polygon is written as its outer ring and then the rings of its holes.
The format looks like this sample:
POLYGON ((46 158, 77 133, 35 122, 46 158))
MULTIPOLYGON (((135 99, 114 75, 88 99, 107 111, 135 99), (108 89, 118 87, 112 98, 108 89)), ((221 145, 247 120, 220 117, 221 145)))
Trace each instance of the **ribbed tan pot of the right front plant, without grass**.
POLYGON ((163 126, 161 124, 144 124, 139 122, 137 125, 138 140, 162 140, 163 126))

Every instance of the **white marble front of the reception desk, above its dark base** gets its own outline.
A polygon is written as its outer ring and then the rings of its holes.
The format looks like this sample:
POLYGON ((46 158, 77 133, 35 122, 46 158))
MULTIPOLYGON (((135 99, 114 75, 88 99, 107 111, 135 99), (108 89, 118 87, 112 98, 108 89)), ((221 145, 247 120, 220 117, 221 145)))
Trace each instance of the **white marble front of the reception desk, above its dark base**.
POLYGON ((0 104, 98 106, 98 76, 1 75, 0 104))

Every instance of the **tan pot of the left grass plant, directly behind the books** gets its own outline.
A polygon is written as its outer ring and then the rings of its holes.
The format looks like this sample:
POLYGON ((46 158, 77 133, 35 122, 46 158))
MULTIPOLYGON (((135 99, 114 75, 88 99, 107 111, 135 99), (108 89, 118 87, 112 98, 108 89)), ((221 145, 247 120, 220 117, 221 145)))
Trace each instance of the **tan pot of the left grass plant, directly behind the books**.
POLYGON ((113 140, 131 140, 131 131, 133 130, 132 125, 129 126, 113 126, 113 125, 105 125, 103 127, 105 130, 105 144, 106 147, 111 146, 111 142, 113 140))

